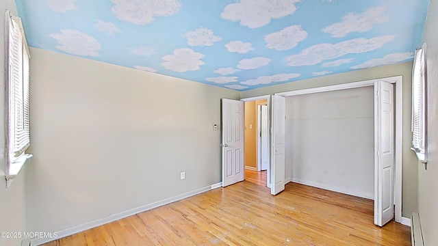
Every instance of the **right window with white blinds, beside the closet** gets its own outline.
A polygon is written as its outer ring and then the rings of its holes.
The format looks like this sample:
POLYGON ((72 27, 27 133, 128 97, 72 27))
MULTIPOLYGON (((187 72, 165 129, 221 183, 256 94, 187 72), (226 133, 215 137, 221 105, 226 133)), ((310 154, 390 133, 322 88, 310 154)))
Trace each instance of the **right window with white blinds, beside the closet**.
POLYGON ((412 150, 426 162, 426 44, 415 51, 412 70, 412 150))

